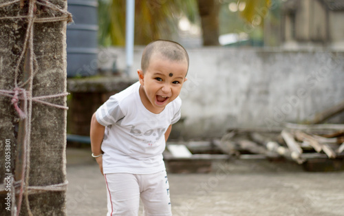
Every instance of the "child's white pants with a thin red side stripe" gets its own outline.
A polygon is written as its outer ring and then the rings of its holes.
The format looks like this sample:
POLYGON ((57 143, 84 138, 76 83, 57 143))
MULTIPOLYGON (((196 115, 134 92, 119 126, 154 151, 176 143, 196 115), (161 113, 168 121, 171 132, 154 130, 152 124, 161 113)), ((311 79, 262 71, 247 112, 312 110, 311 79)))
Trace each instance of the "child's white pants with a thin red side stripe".
POLYGON ((154 174, 109 173, 107 216, 138 215, 140 198, 144 215, 172 215, 166 171, 154 174))

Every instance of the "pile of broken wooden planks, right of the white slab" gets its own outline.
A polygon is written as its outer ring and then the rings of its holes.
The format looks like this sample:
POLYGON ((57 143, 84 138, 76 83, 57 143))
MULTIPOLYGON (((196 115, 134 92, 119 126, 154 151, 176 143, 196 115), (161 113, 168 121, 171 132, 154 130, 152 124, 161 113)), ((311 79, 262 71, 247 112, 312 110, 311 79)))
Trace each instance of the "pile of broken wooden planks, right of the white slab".
POLYGON ((241 159, 287 158, 303 164, 314 158, 344 158, 344 125, 286 124, 280 133, 233 130, 214 143, 241 159))

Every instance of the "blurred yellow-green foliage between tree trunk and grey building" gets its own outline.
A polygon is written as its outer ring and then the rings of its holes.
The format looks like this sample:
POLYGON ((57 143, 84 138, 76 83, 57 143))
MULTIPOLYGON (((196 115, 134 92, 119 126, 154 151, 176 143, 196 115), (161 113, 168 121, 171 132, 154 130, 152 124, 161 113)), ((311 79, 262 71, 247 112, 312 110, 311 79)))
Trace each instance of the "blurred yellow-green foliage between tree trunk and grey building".
POLYGON ((276 45, 278 35, 271 34, 272 32, 268 36, 264 35, 264 26, 268 25, 267 29, 270 30, 279 28, 280 7, 280 0, 222 0, 219 12, 220 35, 243 33, 241 36, 244 36, 246 33, 249 41, 233 44, 234 46, 261 46, 266 41, 269 41, 268 45, 276 45), (230 5, 233 4, 237 6, 236 10, 230 10, 230 5))

